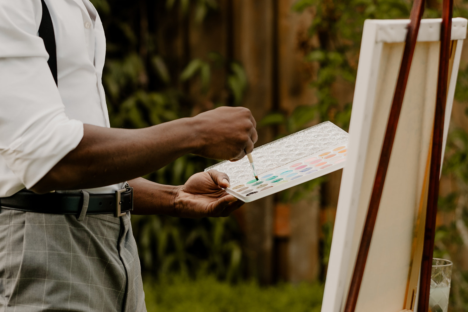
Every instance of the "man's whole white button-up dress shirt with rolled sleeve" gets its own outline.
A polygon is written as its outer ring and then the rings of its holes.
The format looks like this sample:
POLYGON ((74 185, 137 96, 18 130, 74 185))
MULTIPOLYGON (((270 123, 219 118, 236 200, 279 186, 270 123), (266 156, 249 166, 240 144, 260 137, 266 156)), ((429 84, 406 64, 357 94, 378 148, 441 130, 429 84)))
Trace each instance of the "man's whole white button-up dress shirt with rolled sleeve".
MULTIPOLYGON (((0 0, 0 197, 34 186, 83 137, 109 127, 105 37, 89 0, 45 0, 57 44, 58 85, 47 65, 41 0, 0 0)), ((122 184, 90 189, 113 193, 122 184)))

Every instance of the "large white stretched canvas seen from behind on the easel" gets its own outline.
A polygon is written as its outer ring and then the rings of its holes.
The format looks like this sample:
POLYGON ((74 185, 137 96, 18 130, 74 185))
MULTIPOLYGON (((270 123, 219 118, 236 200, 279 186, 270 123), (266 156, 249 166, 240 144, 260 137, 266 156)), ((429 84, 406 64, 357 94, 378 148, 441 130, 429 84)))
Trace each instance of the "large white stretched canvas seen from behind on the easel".
MULTIPOLYGON (((367 20, 358 64, 322 312, 341 312, 387 126, 409 20, 367 20)), ((399 312, 406 295, 413 240, 425 189, 439 63, 441 19, 421 21, 387 178, 361 284, 357 312, 399 312)), ((467 20, 452 22, 453 51, 444 147, 467 20)), ((442 149, 443 150, 443 149, 442 149)), ((416 294, 414 295, 416 297, 416 294)))

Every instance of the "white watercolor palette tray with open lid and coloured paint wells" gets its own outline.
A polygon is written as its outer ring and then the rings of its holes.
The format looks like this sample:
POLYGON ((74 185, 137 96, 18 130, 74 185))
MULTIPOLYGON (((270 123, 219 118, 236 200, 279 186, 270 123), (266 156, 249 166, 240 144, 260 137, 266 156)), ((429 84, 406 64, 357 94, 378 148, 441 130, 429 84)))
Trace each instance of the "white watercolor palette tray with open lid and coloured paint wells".
POLYGON ((229 176, 226 192, 250 202, 342 169, 348 134, 330 121, 259 146, 252 151, 259 180, 247 157, 224 161, 205 169, 229 176))

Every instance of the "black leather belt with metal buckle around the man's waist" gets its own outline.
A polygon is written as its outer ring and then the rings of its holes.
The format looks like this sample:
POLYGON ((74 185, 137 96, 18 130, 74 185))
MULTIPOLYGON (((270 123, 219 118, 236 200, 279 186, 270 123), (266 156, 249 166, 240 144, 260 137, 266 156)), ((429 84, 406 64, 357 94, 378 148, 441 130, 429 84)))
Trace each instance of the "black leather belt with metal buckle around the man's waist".
MULTIPOLYGON (((83 194, 36 194, 22 190, 10 197, 0 198, 0 208, 45 214, 79 215, 83 207, 83 194)), ((133 188, 126 187, 110 194, 89 194, 88 215, 125 215, 133 210, 133 188)))

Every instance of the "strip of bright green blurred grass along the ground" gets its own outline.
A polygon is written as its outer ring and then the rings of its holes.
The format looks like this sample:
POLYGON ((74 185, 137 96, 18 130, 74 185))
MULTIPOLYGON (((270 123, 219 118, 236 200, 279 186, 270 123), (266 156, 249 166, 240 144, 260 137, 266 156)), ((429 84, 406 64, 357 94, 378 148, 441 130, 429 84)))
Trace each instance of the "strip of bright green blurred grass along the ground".
POLYGON ((317 283, 260 287, 256 282, 228 284, 213 276, 145 279, 148 312, 319 312, 323 287, 317 283))

